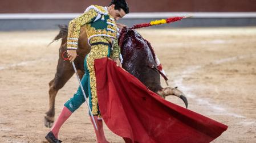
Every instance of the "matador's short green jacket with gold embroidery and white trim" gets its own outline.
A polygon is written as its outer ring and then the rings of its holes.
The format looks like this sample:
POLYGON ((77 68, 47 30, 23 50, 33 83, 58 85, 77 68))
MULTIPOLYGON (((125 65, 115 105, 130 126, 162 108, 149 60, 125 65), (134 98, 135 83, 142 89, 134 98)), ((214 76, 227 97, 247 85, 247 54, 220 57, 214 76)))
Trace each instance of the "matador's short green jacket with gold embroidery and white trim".
POLYGON ((88 44, 107 42, 113 46, 112 58, 118 58, 120 47, 117 41, 117 27, 113 16, 108 14, 107 7, 89 6, 84 14, 70 21, 68 25, 67 49, 78 48, 81 26, 86 26, 88 44))

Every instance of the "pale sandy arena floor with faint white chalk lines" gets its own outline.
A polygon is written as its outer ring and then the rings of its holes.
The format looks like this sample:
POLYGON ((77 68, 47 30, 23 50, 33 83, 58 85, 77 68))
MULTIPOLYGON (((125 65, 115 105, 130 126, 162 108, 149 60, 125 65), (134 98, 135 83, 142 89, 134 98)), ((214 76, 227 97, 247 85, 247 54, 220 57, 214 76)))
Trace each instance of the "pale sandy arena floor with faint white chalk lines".
MULTIPOLYGON (((189 110, 229 126, 213 142, 256 142, 256 27, 140 30, 160 58, 169 83, 184 91, 189 110)), ((0 142, 46 142, 43 117, 54 78, 58 31, 0 32, 0 142)), ((165 86, 165 83, 162 82, 165 86)), ((56 97, 56 117, 78 87, 56 97)), ((170 102, 184 106, 180 99, 170 102)), ((107 139, 124 142, 104 126, 107 139)), ((96 142, 87 107, 60 129, 64 142, 96 142)))

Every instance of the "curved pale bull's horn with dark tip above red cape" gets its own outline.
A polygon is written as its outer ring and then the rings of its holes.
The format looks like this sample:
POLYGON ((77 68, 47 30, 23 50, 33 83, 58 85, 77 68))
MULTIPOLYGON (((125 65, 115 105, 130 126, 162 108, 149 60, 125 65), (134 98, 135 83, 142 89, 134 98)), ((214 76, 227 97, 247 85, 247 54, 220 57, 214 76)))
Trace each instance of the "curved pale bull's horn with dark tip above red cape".
POLYGON ((156 93, 159 94, 164 99, 165 99, 165 96, 168 96, 168 95, 178 96, 180 99, 183 100, 183 102, 186 105, 186 108, 188 108, 188 100, 186 99, 186 96, 184 96, 183 92, 178 90, 177 87, 176 88, 166 87, 166 88, 160 89, 159 91, 156 91, 156 93))

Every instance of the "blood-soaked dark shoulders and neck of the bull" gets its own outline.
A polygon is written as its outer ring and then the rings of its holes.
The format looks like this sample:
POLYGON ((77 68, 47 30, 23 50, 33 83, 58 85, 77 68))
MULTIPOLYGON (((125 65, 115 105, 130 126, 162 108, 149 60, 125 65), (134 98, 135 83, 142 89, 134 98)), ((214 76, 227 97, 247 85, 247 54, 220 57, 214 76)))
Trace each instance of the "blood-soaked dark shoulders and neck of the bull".
POLYGON ((150 90, 162 89, 160 73, 154 60, 152 47, 137 31, 123 28, 119 36, 123 68, 138 78, 150 90))

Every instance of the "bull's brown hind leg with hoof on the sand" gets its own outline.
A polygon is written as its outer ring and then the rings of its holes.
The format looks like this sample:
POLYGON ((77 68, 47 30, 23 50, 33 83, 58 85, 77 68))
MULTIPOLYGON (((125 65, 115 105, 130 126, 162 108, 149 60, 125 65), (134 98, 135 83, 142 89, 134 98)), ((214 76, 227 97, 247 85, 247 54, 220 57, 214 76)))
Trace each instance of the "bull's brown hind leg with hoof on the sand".
POLYGON ((55 74, 55 78, 49 83, 49 110, 46 112, 46 116, 44 116, 44 125, 48 128, 51 128, 54 123, 55 116, 55 97, 57 92, 62 89, 62 87, 67 83, 67 81, 74 74, 74 69, 70 62, 64 62, 61 58, 59 59, 59 63, 57 66, 57 72, 55 74))

